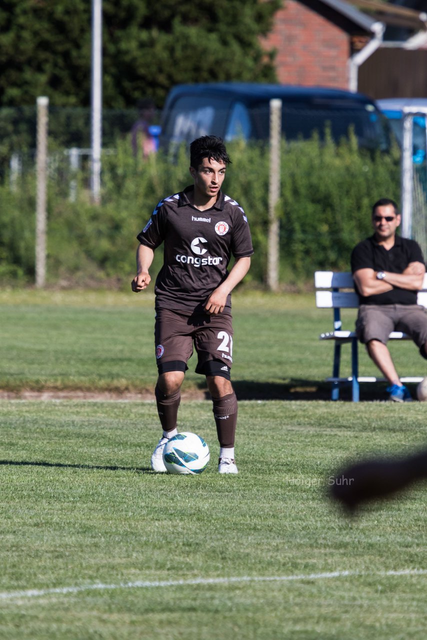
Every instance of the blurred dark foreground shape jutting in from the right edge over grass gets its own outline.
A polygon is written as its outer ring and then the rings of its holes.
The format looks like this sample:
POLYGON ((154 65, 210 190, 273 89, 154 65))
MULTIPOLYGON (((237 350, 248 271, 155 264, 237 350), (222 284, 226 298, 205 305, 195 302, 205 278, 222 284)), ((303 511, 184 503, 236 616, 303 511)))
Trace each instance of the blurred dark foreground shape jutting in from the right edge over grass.
POLYGON ((427 478, 427 449, 403 458, 371 458, 330 476, 330 497, 354 512, 368 500, 392 497, 427 478))

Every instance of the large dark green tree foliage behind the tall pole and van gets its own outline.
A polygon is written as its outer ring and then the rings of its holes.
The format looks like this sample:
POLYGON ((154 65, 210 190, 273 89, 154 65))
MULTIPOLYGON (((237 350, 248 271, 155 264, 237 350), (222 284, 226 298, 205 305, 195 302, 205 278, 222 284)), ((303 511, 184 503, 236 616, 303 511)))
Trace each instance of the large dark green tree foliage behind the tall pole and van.
MULTIPOLYGON (((106 108, 134 107, 150 95, 161 107, 173 84, 276 81, 270 31, 282 0, 104 0, 103 97, 106 108)), ((3 0, 0 6, 0 106, 89 106, 91 3, 3 0)))

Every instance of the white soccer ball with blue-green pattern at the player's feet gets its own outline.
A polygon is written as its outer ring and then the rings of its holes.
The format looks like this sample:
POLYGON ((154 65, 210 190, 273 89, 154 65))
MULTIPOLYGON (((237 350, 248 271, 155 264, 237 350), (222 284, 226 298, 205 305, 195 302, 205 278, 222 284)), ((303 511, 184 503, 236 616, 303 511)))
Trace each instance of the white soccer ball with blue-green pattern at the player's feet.
POLYGON ((170 474, 201 474, 209 457, 209 447, 204 439, 189 431, 177 433, 163 449, 163 462, 170 474))

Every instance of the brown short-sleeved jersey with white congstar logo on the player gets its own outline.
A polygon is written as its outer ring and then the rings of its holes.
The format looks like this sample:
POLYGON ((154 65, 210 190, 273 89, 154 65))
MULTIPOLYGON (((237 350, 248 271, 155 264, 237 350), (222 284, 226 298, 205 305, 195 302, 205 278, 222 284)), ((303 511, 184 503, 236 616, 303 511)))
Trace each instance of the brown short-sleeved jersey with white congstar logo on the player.
MULTIPOLYGON (((232 256, 252 255, 252 240, 245 212, 221 191, 214 206, 199 211, 188 193, 161 200, 138 234, 141 244, 163 248, 163 267, 156 278, 156 308, 203 312, 210 294, 227 278, 232 256)), ((225 312, 230 313, 231 296, 225 312)))

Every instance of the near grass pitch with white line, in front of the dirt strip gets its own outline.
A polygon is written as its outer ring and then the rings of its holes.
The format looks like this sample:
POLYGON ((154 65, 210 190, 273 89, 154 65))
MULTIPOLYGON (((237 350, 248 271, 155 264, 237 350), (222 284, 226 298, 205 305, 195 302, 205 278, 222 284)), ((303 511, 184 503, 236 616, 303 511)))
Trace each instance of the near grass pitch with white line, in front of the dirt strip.
POLYGON ((232 477, 209 405, 180 409, 212 450, 181 477, 149 470, 154 403, 0 403, 0 637, 424 637, 425 487, 354 521, 325 499, 425 442, 424 406, 243 401, 232 477))

